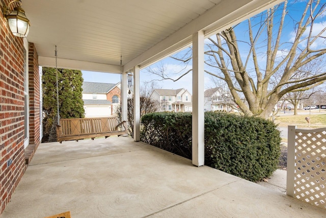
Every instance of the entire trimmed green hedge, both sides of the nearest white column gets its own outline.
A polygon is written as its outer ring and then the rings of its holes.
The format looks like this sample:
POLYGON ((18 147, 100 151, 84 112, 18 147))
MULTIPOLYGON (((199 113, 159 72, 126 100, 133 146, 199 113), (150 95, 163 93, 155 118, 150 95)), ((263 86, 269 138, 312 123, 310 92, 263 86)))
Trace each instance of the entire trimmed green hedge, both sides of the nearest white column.
MULTIPOLYGON (((142 117, 142 141, 192 158, 192 114, 150 113, 142 117)), ((205 113, 205 165, 259 181, 277 168, 280 131, 269 120, 230 113, 205 113)))

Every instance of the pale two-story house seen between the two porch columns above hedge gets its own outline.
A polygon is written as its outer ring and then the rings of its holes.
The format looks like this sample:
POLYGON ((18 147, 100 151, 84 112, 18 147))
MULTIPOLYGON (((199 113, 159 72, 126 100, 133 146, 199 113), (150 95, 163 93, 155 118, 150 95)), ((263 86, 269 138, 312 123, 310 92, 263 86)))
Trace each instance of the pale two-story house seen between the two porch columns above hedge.
POLYGON ((159 102, 159 111, 192 112, 191 93, 184 89, 154 89, 151 98, 159 102))

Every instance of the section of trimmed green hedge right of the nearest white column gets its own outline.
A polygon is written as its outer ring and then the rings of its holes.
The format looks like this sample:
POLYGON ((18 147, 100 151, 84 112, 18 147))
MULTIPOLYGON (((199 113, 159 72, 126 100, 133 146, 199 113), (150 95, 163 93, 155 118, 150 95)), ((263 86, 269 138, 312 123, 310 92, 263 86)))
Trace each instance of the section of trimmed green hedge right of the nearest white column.
POLYGON ((253 182, 279 164, 280 131, 269 120, 229 113, 205 114, 207 164, 253 182))

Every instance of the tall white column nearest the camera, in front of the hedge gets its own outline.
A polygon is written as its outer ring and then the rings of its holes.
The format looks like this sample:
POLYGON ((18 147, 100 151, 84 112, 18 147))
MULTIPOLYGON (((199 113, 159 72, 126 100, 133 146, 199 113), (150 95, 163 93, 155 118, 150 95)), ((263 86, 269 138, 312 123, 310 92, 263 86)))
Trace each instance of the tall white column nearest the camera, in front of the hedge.
POLYGON ((193 34, 193 164, 204 165, 204 32, 193 34))

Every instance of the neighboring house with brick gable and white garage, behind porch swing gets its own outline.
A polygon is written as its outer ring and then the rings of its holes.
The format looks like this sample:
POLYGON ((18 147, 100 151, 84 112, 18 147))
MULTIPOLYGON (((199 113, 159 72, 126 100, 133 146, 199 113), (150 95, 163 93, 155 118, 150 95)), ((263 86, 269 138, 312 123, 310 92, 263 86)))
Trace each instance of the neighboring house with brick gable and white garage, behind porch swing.
POLYGON ((120 105, 120 82, 113 83, 83 83, 83 100, 85 117, 105 117, 115 114, 120 105))

